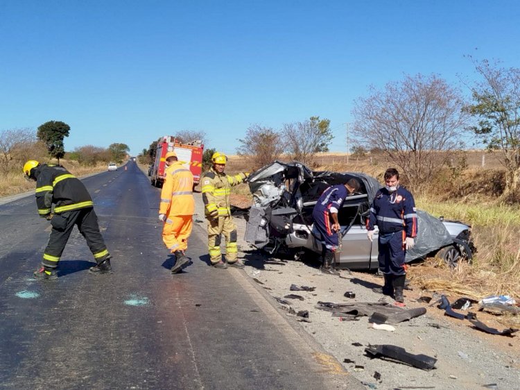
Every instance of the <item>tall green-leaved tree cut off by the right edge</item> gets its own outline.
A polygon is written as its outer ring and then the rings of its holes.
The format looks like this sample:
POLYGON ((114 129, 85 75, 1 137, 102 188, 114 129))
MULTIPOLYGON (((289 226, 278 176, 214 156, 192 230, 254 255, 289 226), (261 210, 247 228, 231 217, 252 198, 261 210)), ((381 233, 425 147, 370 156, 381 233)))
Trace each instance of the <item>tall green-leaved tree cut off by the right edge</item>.
MULTIPOLYGON (((473 60, 473 59, 471 59, 473 60)), ((506 69, 488 60, 473 60, 483 78, 471 88, 473 101, 465 111, 478 119, 469 128, 505 167, 503 199, 520 198, 520 69, 506 69)))

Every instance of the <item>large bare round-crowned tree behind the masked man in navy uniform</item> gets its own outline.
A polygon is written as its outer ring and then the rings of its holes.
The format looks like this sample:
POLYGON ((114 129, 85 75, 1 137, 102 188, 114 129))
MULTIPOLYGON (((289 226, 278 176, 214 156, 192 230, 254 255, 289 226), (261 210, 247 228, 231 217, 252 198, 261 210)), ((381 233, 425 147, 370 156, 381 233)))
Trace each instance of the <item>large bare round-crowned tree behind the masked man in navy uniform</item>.
POLYGON ((406 76, 370 87, 354 102, 354 135, 367 149, 379 149, 399 167, 413 190, 463 145, 467 115, 460 91, 435 75, 406 76))

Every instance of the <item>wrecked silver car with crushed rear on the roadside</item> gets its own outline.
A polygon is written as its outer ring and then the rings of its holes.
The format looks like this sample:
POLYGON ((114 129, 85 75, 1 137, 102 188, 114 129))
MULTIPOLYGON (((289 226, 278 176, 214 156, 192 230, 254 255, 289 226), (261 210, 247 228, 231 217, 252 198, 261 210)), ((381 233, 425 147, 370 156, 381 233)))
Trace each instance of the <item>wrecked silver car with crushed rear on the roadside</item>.
MULTIPOLYGON (((365 173, 315 172, 298 162, 275 161, 248 178, 253 205, 248 214, 245 241, 271 255, 289 253, 296 259, 303 253, 321 253, 321 244, 312 233, 312 211, 320 194, 330 185, 356 178, 359 192, 345 199, 338 213, 343 237, 336 252, 336 268, 376 269, 377 239, 367 239, 365 219, 379 182, 365 173)), ((470 226, 444 221, 417 210, 416 244, 406 252, 406 262, 439 255, 454 266, 471 260, 474 247, 470 226)), ((377 235, 377 231, 376 234, 377 235)))

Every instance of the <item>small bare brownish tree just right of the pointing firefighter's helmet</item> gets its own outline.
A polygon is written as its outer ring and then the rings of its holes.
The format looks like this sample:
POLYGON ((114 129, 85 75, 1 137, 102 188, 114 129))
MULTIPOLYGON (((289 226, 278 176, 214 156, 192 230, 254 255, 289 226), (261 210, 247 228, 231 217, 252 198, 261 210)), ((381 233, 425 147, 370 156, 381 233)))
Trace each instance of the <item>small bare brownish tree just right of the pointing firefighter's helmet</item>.
POLYGON ((284 152, 284 142, 277 130, 254 124, 245 132, 245 137, 239 139, 241 146, 237 149, 239 155, 248 159, 255 169, 270 164, 280 158, 284 152))

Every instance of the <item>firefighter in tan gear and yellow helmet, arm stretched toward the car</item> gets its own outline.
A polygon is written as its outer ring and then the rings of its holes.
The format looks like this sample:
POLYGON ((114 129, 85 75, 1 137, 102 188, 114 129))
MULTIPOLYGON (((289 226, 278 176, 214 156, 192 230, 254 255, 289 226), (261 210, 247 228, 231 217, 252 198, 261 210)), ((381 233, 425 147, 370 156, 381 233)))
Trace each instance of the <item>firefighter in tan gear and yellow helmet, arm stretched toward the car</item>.
POLYGON ((202 176, 202 200, 205 205, 207 219, 209 260, 215 268, 227 268, 234 266, 243 268, 244 264, 238 260, 238 248, 236 246, 236 225, 231 216, 229 194, 231 187, 243 182, 249 173, 237 173, 229 176, 224 173, 227 157, 222 153, 214 153, 211 156, 213 167, 202 176), (224 235, 226 240, 226 260, 222 261, 220 253, 220 239, 224 235))

